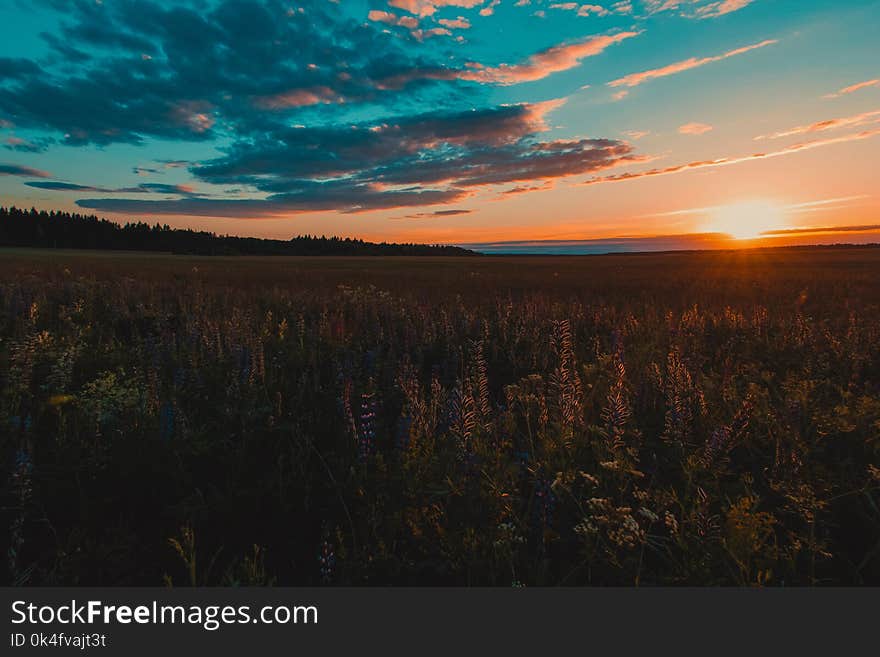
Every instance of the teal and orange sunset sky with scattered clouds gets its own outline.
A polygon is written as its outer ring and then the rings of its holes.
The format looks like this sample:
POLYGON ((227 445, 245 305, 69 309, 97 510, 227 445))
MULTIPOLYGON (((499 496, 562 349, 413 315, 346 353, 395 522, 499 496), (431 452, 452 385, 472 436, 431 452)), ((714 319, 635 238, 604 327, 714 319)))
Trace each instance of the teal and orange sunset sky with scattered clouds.
POLYGON ((0 205, 602 252, 880 242, 880 0, 4 0, 0 205))

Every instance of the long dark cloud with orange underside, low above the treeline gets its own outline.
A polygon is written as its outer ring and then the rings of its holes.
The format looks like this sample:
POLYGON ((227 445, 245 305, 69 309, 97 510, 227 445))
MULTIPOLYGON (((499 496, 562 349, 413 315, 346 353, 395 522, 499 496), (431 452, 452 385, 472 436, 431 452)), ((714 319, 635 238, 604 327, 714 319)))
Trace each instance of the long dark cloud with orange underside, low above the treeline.
POLYGON ((449 204, 483 188, 596 173, 640 161, 613 139, 541 140, 561 101, 427 113, 353 126, 279 128, 191 167, 199 180, 262 198, 83 199, 121 213, 278 216, 449 204))

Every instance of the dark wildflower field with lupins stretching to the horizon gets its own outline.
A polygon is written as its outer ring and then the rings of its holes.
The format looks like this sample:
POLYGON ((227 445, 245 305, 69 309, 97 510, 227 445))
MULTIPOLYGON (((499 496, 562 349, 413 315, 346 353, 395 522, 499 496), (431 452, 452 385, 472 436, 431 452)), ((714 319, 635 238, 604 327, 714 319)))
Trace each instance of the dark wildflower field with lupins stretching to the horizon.
POLYGON ((6 581, 880 584, 880 249, 0 251, 6 581))

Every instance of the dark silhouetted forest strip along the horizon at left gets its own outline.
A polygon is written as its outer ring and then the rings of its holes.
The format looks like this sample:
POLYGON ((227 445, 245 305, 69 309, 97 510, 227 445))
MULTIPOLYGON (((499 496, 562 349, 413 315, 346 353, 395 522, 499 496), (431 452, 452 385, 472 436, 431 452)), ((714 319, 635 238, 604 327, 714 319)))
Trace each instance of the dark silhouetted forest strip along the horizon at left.
POLYGON ((234 237, 141 221, 120 225, 95 215, 15 207, 0 207, 0 246, 161 251, 189 255, 477 255, 457 246, 376 244, 347 237, 304 235, 289 241, 234 237))

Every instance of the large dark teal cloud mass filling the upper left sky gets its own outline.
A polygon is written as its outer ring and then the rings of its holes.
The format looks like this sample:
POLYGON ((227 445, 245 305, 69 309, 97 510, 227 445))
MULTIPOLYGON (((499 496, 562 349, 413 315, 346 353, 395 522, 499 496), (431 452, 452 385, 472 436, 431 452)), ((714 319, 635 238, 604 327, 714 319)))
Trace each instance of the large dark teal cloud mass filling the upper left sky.
MULTIPOLYGON (((39 2, 57 12, 59 27, 44 35, 50 55, 39 65, 0 58, 0 116, 70 145, 262 133, 273 114, 343 101, 393 105, 394 90, 377 80, 455 65, 327 2, 308 11, 280 0, 39 2)), ((449 28, 414 37, 441 33, 449 28)))

